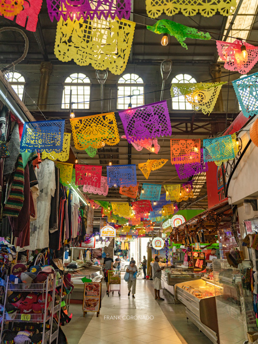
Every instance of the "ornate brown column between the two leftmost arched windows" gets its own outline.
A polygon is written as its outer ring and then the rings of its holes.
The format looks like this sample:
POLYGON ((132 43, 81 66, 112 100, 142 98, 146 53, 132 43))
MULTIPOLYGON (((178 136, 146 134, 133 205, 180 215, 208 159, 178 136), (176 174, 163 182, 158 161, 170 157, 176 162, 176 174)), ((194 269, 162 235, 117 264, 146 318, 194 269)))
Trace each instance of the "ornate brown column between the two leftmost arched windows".
POLYGON ((50 73, 52 72, 51 62, 41 62, 40 64, 40 86, 38 92, 38 107, 40 110, 46 110, 47 100, 48 100, 48 83, 50 73))

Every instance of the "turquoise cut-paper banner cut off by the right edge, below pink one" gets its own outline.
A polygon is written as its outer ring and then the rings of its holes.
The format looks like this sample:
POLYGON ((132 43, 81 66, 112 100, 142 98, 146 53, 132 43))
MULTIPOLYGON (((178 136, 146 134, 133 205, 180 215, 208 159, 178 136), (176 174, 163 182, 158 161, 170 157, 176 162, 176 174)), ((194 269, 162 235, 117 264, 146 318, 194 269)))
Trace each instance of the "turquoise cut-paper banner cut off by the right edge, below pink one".
POLYGON ((258 114, 258 73, 232 81, 239 107, 246 117, 258 114))

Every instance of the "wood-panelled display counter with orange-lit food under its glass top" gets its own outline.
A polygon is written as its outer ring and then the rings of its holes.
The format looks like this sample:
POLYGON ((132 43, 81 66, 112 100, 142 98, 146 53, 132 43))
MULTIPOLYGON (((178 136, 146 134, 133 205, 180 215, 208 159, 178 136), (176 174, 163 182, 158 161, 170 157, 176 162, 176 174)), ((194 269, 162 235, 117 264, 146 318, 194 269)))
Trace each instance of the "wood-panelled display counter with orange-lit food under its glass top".
POLYGON ((186 316, 212 343, 219 343, 213 283, 202 279, 175 285, 175 299, 186 306, 186 316))

